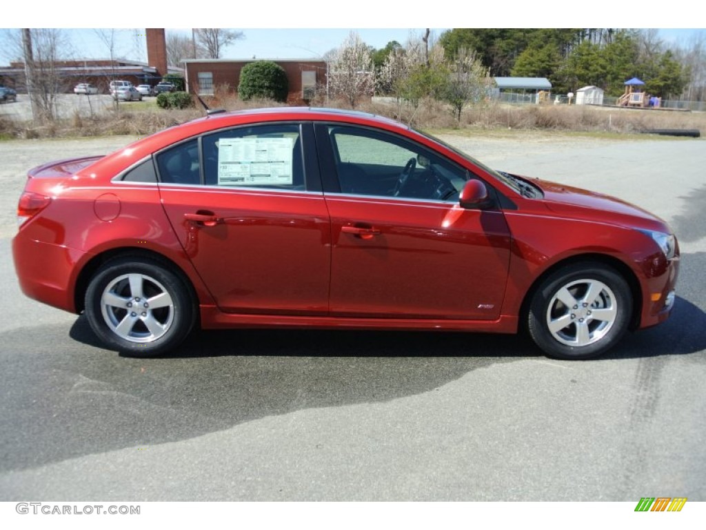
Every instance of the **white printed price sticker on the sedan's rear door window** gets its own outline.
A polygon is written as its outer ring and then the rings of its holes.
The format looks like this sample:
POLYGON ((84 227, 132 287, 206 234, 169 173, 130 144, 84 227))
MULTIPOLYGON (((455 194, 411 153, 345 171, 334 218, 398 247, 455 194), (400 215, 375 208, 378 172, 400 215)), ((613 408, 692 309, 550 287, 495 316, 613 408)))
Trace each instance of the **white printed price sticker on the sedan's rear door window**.
POLYGON ((293 138, 223 138, 218 141, 218 185, 292 184, 293 138))

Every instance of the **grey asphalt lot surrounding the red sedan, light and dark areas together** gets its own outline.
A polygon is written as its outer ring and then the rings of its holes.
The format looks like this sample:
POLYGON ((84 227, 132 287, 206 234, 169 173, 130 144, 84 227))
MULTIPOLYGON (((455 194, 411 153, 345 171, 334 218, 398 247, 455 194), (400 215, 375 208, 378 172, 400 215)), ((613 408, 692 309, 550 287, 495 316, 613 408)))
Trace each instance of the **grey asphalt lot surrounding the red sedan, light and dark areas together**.
POLYGON ((706 500, 706 141, 445 139, 668 220, 671 319, 573 363, 521 336, 350 331, 123 358, 25 298, 10 245, 29 167, 132 139, 0 142, 0 500, 706 500))

